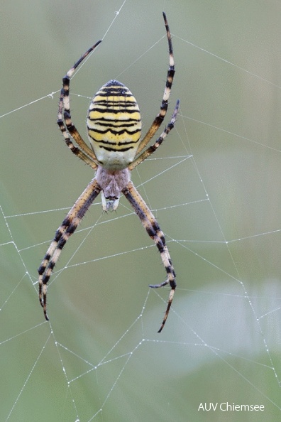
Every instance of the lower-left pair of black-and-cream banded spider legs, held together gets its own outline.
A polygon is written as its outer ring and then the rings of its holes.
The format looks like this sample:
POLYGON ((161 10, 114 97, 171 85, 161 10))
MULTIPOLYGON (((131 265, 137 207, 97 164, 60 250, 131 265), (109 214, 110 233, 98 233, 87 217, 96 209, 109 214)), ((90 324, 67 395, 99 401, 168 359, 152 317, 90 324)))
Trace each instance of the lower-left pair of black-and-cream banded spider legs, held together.
POLYGON ((90 205, 97 195, 99 195, 101 188, 97 180, 93 178, 82 195, 79 196, 75 205, 73 205, 70 212, 68 212, 65 220, 63 220, 60 227, 55 232, 53 242, 51 242, 48 251, 46 252, 43 261, 38 269, 39 274, 39 301, 43 306, 45 319, 48 320, 47 315, 47 283, 53 272, 57 259, 60 257, 62 248, 69 237, 75 232, 79 222, 84 217, 90 205))

